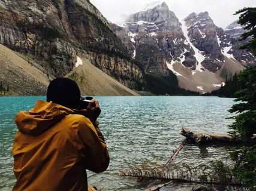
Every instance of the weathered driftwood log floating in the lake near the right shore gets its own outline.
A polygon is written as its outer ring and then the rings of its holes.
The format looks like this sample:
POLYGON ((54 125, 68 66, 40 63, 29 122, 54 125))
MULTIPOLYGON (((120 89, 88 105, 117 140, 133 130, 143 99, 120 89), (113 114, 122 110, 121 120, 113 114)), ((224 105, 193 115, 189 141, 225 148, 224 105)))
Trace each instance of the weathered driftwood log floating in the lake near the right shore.
POLYGON ((234 140, 231 135, 228 134, 215 134, 206 132, 193 132, 188 128, 182 128, 181 133, 189 141, 203 144, 203 143, 256 143, 256 137, 251 138, 248 141, 234 140))

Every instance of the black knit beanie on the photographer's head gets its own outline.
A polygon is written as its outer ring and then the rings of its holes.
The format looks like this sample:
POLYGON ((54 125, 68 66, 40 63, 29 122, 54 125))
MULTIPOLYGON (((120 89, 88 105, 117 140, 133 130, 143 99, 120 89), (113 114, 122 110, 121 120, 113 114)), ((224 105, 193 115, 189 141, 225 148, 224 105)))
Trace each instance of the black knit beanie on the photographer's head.
POLYGON ((56 78, 49 84, 46 100, 70 109, 77 109, 80 96, 81 93, 75 81, 69 78, 56 78))

